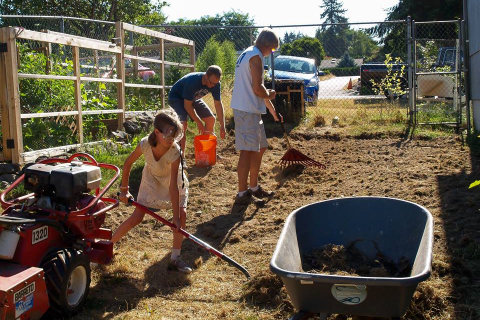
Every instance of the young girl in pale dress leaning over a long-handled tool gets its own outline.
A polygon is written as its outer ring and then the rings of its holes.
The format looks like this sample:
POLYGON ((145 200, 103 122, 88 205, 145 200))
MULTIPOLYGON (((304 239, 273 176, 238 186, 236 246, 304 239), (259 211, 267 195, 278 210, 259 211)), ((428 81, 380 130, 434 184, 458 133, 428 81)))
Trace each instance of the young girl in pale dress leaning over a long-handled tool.
MULTIPOLYGON (((145 167, 137 201, 154 210, 172 208, 173 222, 177 228, 185 228, 188 181, 183 170, 179 170, 181 157, 177 144, 183 136, 182 124, 172 109, 165 109, 155 116, 153 126, 153 132, 143 138, 125 160, 120 184, 120 201, 128 203, 128 198, 132 197, 128 192, 130 170, 133 163, 143 154, 145 167)), ((115 230, 112 242, 120 240, 130 229, 142 222, 144 216, 145 213, 136 208, 115 230)), ((178 229, 173 232, 173 249, 168 269, 190 273, 192 269, 180 259, 183 236, 177 231, 178 229)))

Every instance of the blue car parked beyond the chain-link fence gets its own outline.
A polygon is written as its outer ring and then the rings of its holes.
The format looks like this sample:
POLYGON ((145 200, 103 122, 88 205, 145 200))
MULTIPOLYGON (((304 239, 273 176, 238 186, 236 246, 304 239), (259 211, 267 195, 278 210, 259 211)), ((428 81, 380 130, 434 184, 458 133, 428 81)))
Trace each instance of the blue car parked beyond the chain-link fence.
POLYGON ((318 76, 323 72, 317 70, 314 59, 280 55, 274 60, 274 74, 275 79, 303 80, 305 100, 317 101, 320 85, 318 76))

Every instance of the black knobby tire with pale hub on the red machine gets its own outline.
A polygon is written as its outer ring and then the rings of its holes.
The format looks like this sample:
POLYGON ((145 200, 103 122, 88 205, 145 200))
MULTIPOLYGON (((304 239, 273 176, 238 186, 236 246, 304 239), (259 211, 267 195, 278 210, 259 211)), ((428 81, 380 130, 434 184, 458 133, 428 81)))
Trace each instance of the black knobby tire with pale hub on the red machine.
POLYGON ((90 262, 80 251, 61 249, 44 259, 50 307, 54 313, 72 316, 83 307, 91 281, 90 262))

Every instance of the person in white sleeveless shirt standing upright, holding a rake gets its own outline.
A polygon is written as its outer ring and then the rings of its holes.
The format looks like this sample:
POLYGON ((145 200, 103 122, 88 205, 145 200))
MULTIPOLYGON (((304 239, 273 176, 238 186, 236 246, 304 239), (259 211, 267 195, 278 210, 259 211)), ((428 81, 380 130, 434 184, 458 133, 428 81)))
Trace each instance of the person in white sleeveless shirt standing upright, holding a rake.
POLYGON ((240 151, 238 193, 235 197, 238 205, 255 203, 262 206, 265 202, 260 198, 273 196, 272 191, 258 185, 258 174, 268 147, 261 115, 266 114, 268 109, 275 121, 280 121, 270 101, 275 99, 275 90, 267 89, 263 84, 263 57, 276 50, 279 44, 273 30, 265 28, 258 35, 255 45, 247 48, 237 59, 231 108, 235 120, 235 148, 240 151))

